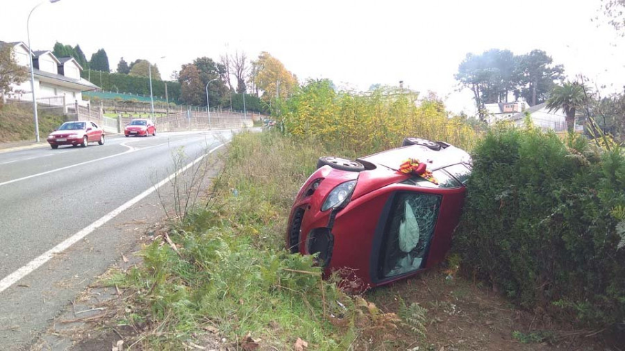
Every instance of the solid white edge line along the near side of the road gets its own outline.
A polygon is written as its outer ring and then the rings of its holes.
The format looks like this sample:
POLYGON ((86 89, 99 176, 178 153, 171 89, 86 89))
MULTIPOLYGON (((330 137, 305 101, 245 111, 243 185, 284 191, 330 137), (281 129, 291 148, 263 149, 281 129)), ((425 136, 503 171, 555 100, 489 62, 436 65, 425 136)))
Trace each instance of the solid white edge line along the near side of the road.
POLYGON ((77 232, 76 234, 72 235, 72 237, 65 239, 62 243, 59 243, 57 246, 54 246, 47 252, 44 252, 41 256, 33 259, 31 262, 28 262, 28 264, 26 264, 25 266, 22 266, 22 268, 19 268, 17 271, 11 273, 10 275, 7 275, 2 280, 0 280, 0 293, 8 289, 12 284, 15 284, 16 282, 21 280, 23 277, 26 277, 26 275, 35 271, 35 269, 39 268, 44 263, 48 262, 50 259, 52 259, 52 257, 54 257, 54 255, 57 255, 60 252, 63 252, 64 250, 67 250, 69 246, 74 245, 74 243, 76 243, 77 241, 80 241, 81 239, 89 235, 91 232, 93 232, 97 228, 104 225, 106 222, 115 218, 115 216, 117 216, 118 214, 124 212, 124 210, 128 209, 128 207, 135 205, 135 203, 138 203, 140 200, 142 200, 149 194, 152 194, 154 191, 158 190, 160 187, 163 187, 163 185, 167 184, 167 182, 172 180, 174 177, 178 176, 180 173, 183 173, 194 164, 197 164, 197 162, 200 162, 204 157, 206 157, 207 155, 210 155, 215 150, 217 150, 218 148, 221 148, 222 146, 228 143, 229 142, 226 142, 224 144, 219 144, 219 146, 215 146, 215 148, 210 149, 208 153, 205 153, 201 155, 200 157, 197 157, 197 159, 195 159, 193 162, 184 166, 183 169, 180 169, 176 171, 175 173, 172 173, 169 177, 158 182, 157 185, 154 185, 153 187, 150 187, 146 191, 143 191, 138 196, 135 196, 131 200, 128 200, 128 202, 117 207, 116 209, 113 209, 113 211, 108 212, 108 214, 103 216, 101 219, 98 219, 94 223, 91 223, 87 227, 83 228, 83 230, 81 230, 80 232, 77 232))

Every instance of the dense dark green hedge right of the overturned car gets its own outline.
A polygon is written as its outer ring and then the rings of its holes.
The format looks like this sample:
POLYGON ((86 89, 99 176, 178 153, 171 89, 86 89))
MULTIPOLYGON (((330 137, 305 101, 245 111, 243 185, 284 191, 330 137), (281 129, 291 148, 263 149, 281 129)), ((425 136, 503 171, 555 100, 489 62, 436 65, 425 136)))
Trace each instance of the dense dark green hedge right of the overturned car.
POLYGON ((583 137, 492 130, 454 238, 467 273, 581 327, 625 327, 625 157, 583 137))

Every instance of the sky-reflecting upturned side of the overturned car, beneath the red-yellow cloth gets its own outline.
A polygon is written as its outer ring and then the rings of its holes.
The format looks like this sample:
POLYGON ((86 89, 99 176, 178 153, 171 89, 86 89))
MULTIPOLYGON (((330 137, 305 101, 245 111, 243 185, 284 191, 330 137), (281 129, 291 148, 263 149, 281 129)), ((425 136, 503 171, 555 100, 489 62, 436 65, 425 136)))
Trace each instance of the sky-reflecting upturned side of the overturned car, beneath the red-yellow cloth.
POLYGON ((399 166, 409 158, 416 158, 419 162, 426 163, 430 171, 452 164, 471 164, 471 156, 466 151, 454 146, 447 146, 447 148, 436 151, 427 146, 410 145, 362 157, 360 160, 380 164, 397 171, 399 166))

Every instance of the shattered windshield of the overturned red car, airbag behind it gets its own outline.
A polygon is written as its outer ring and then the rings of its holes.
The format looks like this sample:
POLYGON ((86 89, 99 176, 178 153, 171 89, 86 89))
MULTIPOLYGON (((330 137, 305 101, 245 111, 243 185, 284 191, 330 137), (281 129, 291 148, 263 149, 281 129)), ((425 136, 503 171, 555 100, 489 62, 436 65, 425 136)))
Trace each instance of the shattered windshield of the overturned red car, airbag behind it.
POLYGON ((415 192, 394 197, 382 239, 379 279, 424 268, 440 200, 439 195, 415 192))

